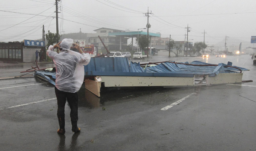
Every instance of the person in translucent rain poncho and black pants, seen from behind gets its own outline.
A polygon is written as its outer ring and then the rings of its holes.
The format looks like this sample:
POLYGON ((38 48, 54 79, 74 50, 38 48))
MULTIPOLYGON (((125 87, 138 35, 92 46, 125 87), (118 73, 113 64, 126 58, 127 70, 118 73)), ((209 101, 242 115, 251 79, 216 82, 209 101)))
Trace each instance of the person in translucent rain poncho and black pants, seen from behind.
POLYGON ((72 131, 76 133, 81 130, 77 126, 78 96, 76 92, 79 91, 84 81, 84 66, 90 62, 90 54, 84 54, 78 44, 74 44, 74 47, 79 50, 79 53, 70 50, 72 44, 72 39, 64 39, 54 46, 49 46, 47 50, 47 55, 56 67, 55 94, 58 102, 57 117, 60 128, 57 132, 59 134, 65 134, 66 98, 71 109, 72 131), (53 51, 56 47, 61 50, 59 54, 53 51))

